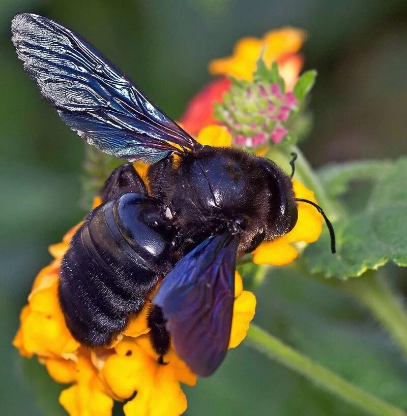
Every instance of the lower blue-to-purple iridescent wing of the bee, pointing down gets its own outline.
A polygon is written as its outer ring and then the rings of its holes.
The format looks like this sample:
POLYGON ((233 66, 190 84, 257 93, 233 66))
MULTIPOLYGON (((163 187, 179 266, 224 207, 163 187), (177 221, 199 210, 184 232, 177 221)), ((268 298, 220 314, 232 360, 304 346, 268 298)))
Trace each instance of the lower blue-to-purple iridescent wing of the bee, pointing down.
POLYGON ((165 276, 153 299, 177 354, 200 376, 219 367, 229 345, 238 241, 228 232, 207 238, 165 276))

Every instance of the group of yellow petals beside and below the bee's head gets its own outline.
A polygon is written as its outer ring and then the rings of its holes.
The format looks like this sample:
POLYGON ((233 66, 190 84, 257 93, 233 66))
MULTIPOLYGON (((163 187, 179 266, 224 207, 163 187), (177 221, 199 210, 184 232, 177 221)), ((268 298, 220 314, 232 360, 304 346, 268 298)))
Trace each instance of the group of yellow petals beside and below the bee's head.
MULTIPOLYGON (((314 193, 301 182, 294 180, 296 198, 308 199, 316 203, 314 193)), ((274 241, 260 244, 253 252, 253 262, 284 266, 298 257, 298 249, 293 243, 313 243, 322 231, 322 215, 314 207, 303 202, 298 203, 298 221, 288 234, 276 238, 274 241)))

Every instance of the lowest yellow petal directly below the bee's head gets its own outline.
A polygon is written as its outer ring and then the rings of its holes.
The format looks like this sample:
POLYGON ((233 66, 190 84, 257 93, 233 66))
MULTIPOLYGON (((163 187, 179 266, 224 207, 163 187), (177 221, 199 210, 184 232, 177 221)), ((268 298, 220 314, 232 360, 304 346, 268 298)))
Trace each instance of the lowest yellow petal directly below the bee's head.
POLYGON ((297 250, 284 238, 261 243, 253 251, 253 262, 256 264, 269 264, 272 266, 285 266, 298 256, 297 250))

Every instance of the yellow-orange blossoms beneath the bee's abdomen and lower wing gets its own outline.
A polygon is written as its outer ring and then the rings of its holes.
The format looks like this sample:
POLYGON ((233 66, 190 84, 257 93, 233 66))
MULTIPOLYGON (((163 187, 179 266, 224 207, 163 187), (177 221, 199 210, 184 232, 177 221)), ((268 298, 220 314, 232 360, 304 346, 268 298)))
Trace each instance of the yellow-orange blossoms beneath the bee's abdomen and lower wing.
MULTIPOLYGON (((218 133, 215 137, 226 138, 223 131, 218 133)), ((136 166, 140 168, 145 169, 136 166)), ((95 198, 94 206, 100 203, 95 198)), ((62 242, 49 247, 54 260, 34 281, 13 345, 24 357, 36 355, 56 382, 72 383, 60 395, 61 405, 71 416, 110 416, 114 400, 128 400, 123 407, 126 416, 182 414, 187 400, 181 383, 194 386, 196 375, 172 348, 165 356, 168 365, 158 364, 148 337, 148 305, 109 347, 90 350, 69 333, 57 298, 57 284, 61 260, 79 226, 68 231, 62 242)), ((235 280, 230 348, 245 338, 255 309, 255 297, 243 290, 238 273, 235 280)))

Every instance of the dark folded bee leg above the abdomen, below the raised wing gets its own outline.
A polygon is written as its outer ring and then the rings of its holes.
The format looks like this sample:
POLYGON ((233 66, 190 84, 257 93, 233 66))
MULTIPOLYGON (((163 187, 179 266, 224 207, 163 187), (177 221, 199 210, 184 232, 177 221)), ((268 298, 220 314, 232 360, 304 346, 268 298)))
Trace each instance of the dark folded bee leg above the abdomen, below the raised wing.
POLYGON ((126 163, 114 169, 106 179, 100 190, 100 197, 103 202, 107 202, 129 192, 147 195, 147 187, 134 169, 133 164, 126 163))

